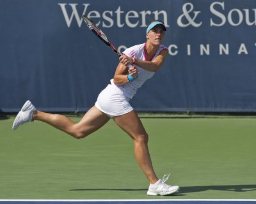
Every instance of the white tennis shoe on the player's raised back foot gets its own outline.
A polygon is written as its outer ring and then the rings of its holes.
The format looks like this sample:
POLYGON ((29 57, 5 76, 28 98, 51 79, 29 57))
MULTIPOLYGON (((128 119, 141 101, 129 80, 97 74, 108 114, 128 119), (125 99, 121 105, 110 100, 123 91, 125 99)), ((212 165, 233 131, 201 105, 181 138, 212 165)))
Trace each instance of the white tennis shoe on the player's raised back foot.
POLYGON ((26 122, 29 122, 29 121, 32 122, 33 121, 32 116, 35 110, 36 110, 35 106, 30 101, 26 101, 26 103, 24 103, 20 112, 16 116, 12 125, 12 129, 17 129, 20 125, 26 122))

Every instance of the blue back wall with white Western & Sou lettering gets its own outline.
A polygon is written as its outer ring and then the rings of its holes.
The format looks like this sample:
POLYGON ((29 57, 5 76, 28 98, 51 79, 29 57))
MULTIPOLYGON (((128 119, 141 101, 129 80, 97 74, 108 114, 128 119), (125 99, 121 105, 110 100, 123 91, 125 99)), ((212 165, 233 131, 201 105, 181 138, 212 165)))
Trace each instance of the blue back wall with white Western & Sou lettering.
POLYGON ((0 111, 30 99, 49 112, 84 112, 113 77, 117 55, 82 22, 89 15, 120 48, 167 25, 168 59, 131 104, 138 111, 255 112, 255 0, 2 0, 0 111))

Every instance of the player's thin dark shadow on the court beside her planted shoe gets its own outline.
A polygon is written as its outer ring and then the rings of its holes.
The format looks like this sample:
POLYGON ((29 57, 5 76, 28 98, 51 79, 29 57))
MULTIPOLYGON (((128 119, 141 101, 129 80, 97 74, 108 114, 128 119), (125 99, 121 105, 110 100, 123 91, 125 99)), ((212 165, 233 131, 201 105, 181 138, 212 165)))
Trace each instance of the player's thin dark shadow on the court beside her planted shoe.
MULTIPOLYGON (((147 191, 148 189, 70 189, 69 191, 147 191)), ((234 191, 246 192, 256 191, 256 185, 230 185, 230 186, 186 186, 180 187, 180 190, 175 193, 177 196, 186 193, 203 192, 208 190, 215 191, 234 191)))

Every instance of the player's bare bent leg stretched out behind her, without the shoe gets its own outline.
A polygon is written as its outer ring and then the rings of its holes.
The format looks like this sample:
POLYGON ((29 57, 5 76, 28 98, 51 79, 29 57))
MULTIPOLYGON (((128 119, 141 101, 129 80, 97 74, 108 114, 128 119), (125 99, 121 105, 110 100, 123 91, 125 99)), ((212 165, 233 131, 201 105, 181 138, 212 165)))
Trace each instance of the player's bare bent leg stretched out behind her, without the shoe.
POLYGON ((40 120, 50 124, 54 128, 60 129, 74 138, 84 138, 97 129, 104 126, 109 121, 108 115, 102 113, 93 106, 79 122, 74 122, 65 115, 51 114, 36 110, 33 113, 33 120, 40 120))

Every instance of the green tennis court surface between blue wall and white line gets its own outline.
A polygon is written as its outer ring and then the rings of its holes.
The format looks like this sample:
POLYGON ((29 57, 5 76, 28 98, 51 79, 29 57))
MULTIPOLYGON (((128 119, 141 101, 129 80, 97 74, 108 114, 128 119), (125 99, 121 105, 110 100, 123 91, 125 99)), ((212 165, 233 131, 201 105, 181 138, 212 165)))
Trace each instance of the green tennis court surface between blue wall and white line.
MULTIPOLYGON (((79 120, 79 117, 72 117, 79 120)), ((129 136, 110 120, 76 140, 43 122, 0 120, 0 199, 255 199, 255 117, 142 118, 159 178, 173 196, 147 196, 129 136)))

